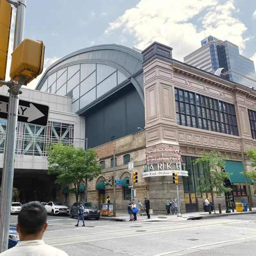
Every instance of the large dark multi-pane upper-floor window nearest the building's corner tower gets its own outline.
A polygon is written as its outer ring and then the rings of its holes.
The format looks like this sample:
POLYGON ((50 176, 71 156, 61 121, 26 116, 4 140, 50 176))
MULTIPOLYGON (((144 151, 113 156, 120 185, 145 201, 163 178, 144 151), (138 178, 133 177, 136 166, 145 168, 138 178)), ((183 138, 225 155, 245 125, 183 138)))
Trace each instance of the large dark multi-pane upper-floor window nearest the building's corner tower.
POLYGON ((239 135, 233 104, 177 88, 174 92, 177 124, 239 135))

